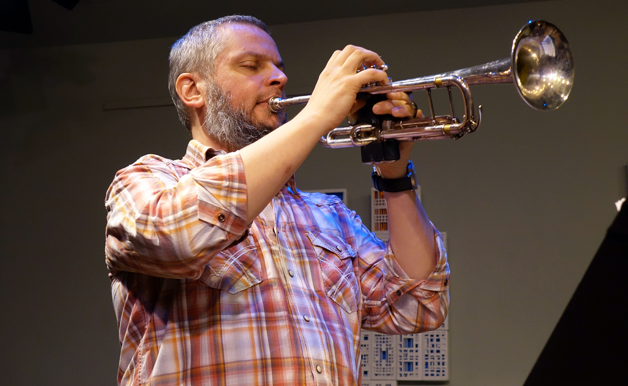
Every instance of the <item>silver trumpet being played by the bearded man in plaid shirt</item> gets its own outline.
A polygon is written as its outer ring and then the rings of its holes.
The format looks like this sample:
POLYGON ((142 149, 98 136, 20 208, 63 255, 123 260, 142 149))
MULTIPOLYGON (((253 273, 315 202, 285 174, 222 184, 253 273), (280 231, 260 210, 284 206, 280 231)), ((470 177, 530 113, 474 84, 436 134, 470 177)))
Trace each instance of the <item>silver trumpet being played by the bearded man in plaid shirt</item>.
MULTIPOLYGON (((482 106, 476 118, 470 85, 514 83, 528 106, 550 111, 566 101, 574 74, 573 54, 565 35, 547 21, 529 21, 512 41, 510 57, 441 74, 363 85, 357 97, 367 99, 367 105, 357 112, 357 122, 333 129, 319 143, 330 148, 361 146, 364 163, 394 162, 399 159, 398 141, 457 140, 477 130, 482 121, 482 106), (431 90, 441 87, 447 88, 451 114, 435 116, 431 90), (462 119, 454 111, 452 87, 462 95, 462 119), (371 111, 377 101, 386 99, 387 92, 417 90, 427 92, 430 117, 395 119, 376 116, 371 111)), ((310 96, 273 97, 268 103, 272 111, 278 112, 285 106, 306 104, 309 99, 310 96)))

